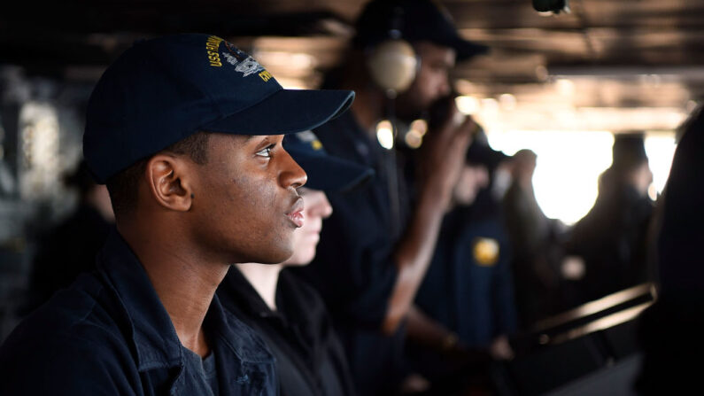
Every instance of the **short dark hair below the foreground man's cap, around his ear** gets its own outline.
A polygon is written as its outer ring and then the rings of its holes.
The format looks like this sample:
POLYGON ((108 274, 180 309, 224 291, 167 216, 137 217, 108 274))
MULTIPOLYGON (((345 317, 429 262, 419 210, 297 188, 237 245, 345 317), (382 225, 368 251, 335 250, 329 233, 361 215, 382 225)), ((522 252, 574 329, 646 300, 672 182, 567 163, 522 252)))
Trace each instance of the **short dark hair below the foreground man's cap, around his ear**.
MULTIPOLYGON (((197 132, 164 149, 174 154, 188 155, 193 162, 204 165, 208 160, 208 132, 197 132)), ((140 178, 144 175, 145 167, 150 158, 140 159, 132 166, 112 176, 105 183, 112 201, 112 211, 115 216, 127 214, 135 209, 137 204, 137 189, 140 178)))

